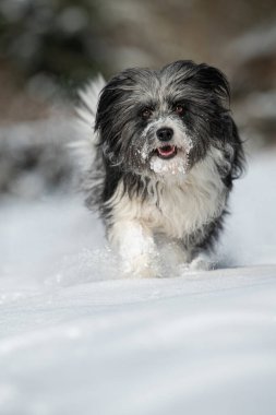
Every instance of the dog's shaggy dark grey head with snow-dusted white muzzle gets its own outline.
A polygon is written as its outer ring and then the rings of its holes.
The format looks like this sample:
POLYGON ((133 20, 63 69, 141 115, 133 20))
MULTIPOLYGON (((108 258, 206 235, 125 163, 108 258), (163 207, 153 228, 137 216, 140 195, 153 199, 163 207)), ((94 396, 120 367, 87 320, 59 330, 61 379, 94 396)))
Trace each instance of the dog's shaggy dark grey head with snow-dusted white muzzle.
POLYGON ((214 141, 224 140, 228 97, 225 75, 204 63, 119 73, 97 108, 106 163, 142 176, 185 174, 214 141))

